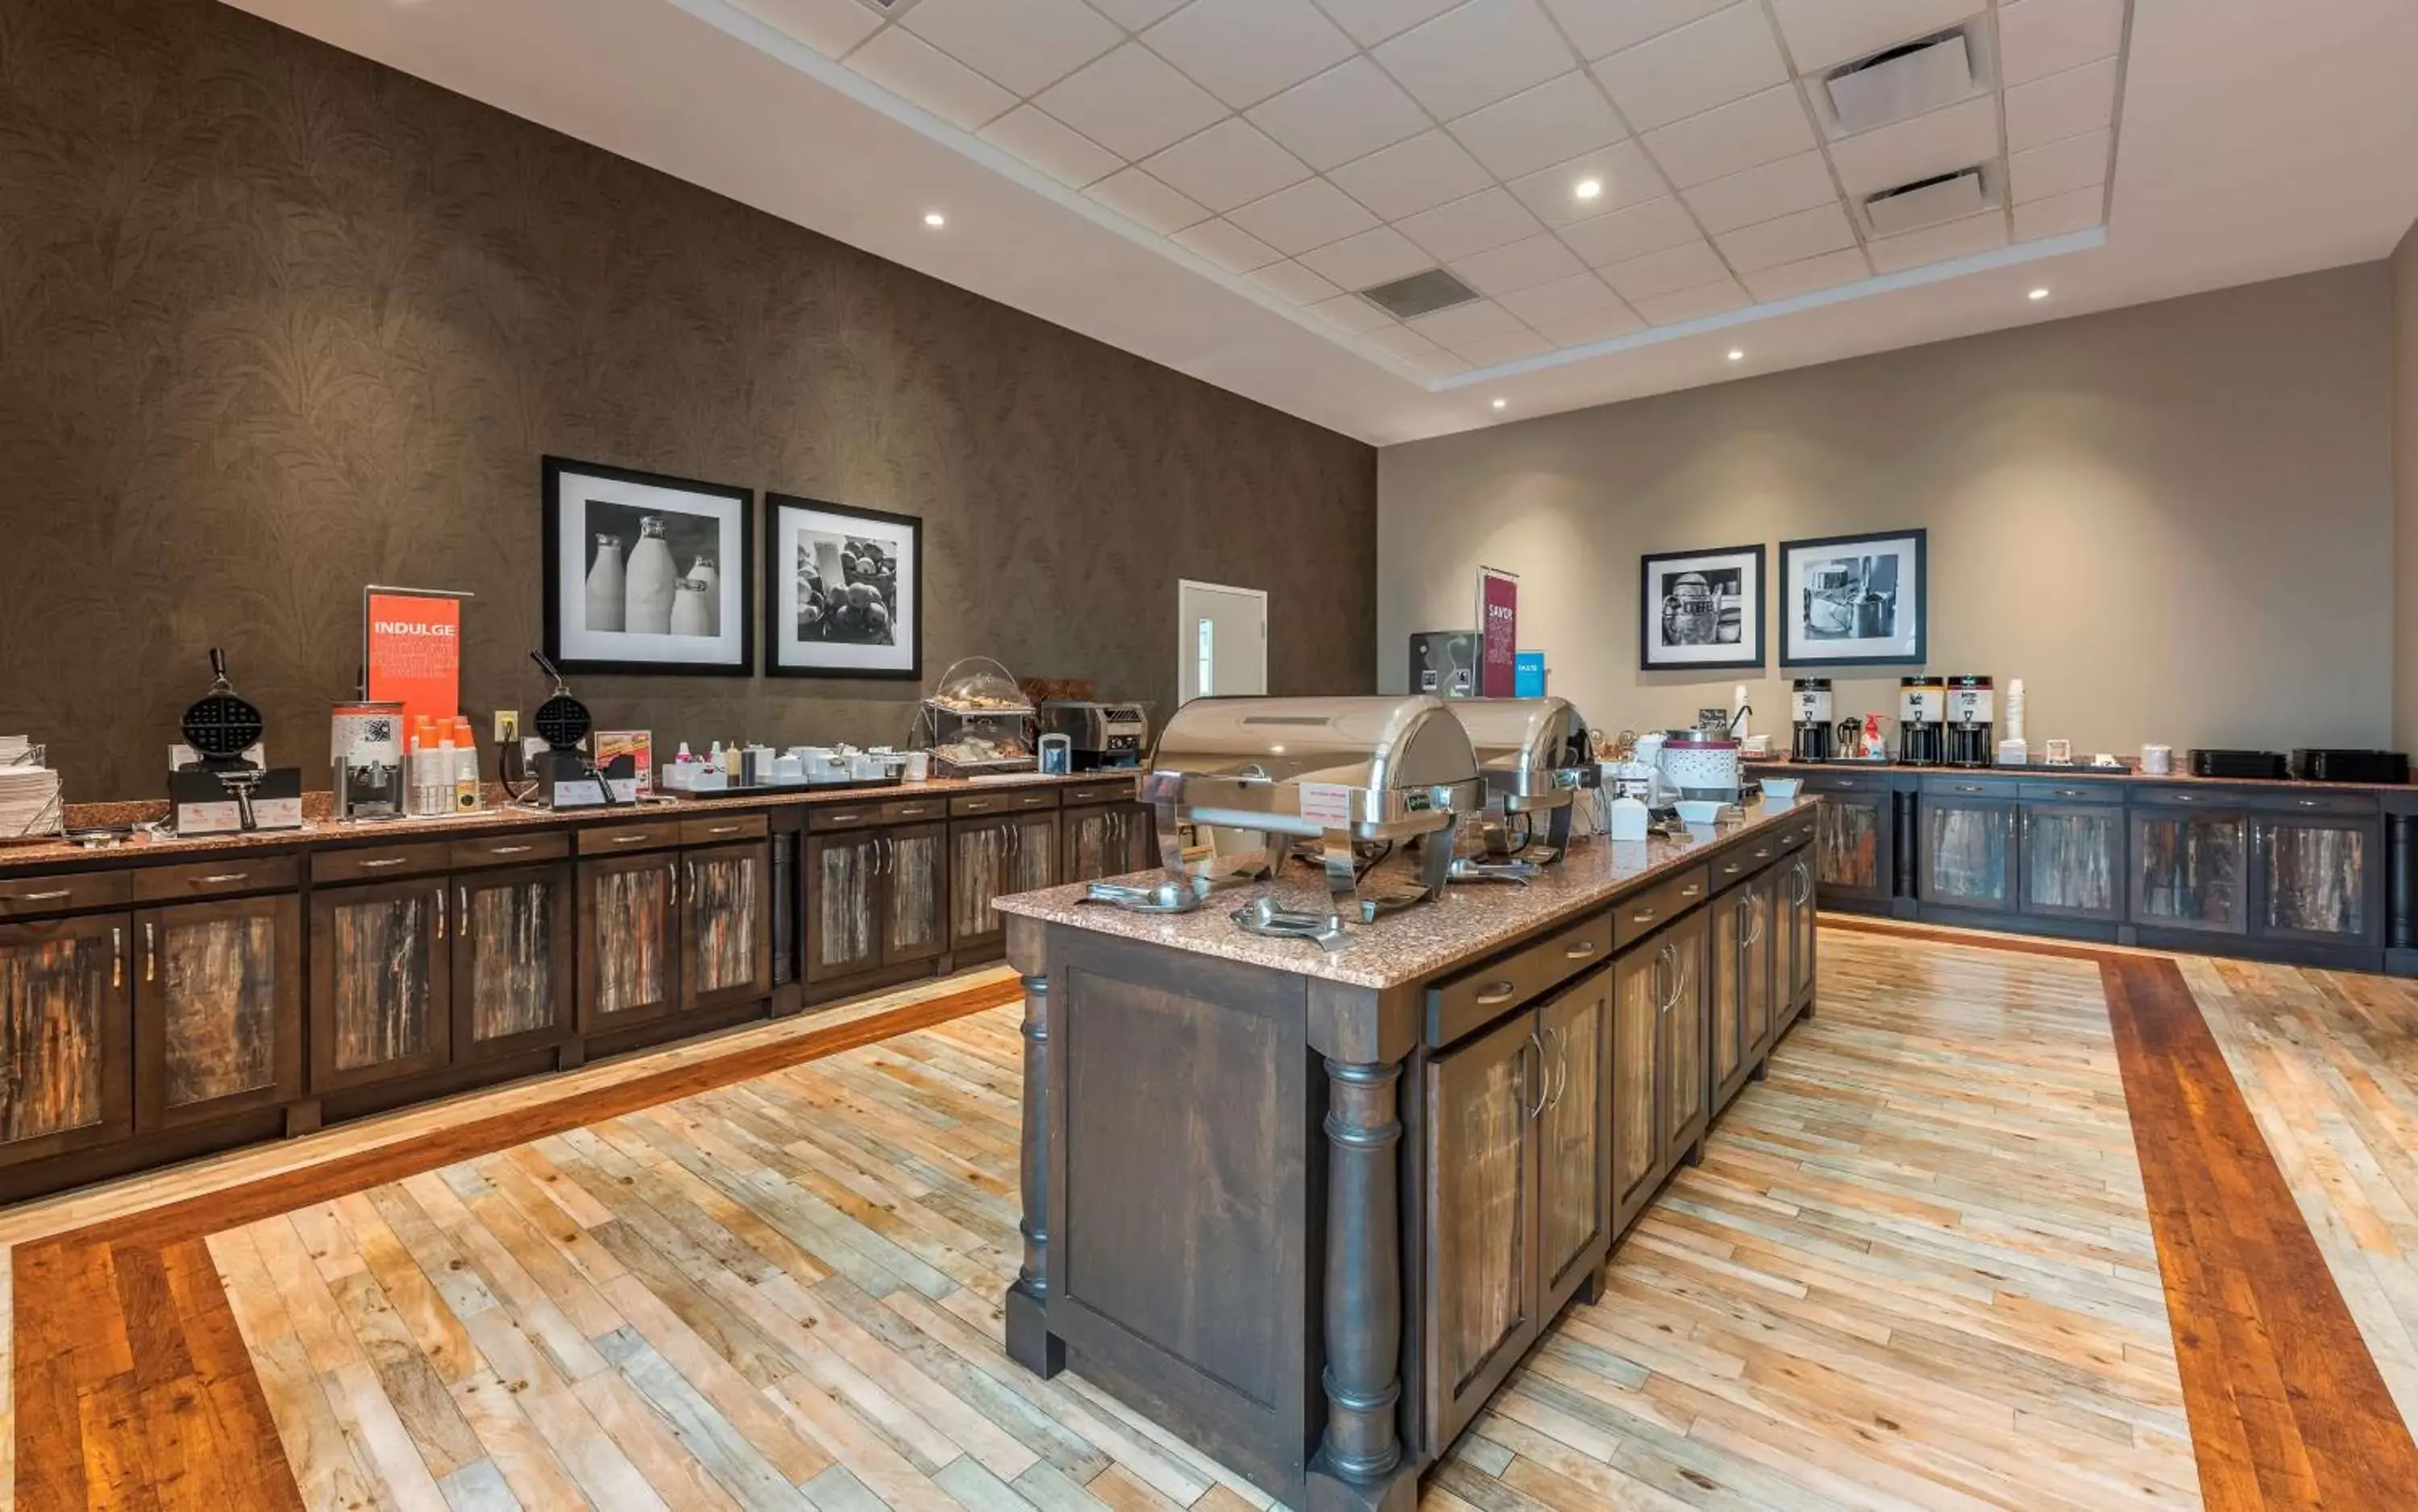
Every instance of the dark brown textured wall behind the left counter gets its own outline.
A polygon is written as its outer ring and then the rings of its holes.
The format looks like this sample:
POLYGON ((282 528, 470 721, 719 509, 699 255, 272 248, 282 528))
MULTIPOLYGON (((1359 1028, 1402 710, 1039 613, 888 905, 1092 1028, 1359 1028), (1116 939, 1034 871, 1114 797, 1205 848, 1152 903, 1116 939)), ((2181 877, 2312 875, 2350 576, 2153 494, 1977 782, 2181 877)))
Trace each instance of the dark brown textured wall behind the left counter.
MULTIPOLYGON (((1376 455, 203 0, 0 0, 0 733, 150 796, 220 644, 319 767, 360 585, 542 694, 539 455, 924 515, 926 670, 1168 706, 1175 581, 1361 692, 1376 455)), ((660 740, 887 740, 904 682, 588 677, 660 740)), ((479 714, 484 723, 484 714, 479 714)))

